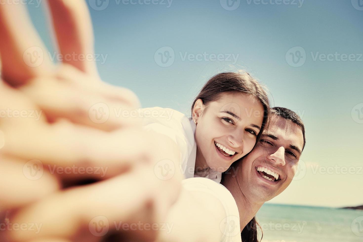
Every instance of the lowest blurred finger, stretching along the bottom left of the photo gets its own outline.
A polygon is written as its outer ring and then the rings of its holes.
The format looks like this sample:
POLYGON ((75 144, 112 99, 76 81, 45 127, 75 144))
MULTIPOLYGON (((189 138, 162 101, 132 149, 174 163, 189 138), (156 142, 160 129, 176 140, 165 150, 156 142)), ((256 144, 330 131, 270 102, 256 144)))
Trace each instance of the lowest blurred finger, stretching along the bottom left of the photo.
POLYGON ((119 221, 127 223, 148 207, 155 190, 151 173, 149 167, 138 168, 113 179, 55 193, 10 217, 12 223, 42 225, 38 231, 7 231, 6 237, 12 241, 48 237, 100 239, 117 230, 119 221))

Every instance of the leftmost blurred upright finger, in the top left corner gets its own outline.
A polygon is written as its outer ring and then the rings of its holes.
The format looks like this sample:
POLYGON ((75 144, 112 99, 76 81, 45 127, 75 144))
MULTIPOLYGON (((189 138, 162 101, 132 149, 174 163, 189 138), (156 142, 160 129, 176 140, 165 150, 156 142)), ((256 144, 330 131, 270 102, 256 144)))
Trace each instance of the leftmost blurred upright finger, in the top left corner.
POLYGON ((49 76, 53 65, 24 4, 0 0, 2 75, 12 86, 36 76, 49 76))

